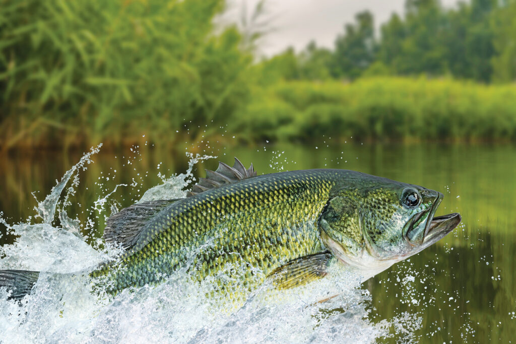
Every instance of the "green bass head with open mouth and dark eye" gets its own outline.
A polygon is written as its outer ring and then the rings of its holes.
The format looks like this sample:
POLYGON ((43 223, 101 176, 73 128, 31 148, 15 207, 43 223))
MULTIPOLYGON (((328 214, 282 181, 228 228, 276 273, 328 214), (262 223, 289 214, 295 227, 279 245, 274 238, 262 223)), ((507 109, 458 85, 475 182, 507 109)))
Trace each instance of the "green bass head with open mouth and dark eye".
POLYGON ((459 214, 435 217, 443 194, 374 177, 368 185, 334 192, 319 218, 325 246, 367 278, 439 241, 459 214))

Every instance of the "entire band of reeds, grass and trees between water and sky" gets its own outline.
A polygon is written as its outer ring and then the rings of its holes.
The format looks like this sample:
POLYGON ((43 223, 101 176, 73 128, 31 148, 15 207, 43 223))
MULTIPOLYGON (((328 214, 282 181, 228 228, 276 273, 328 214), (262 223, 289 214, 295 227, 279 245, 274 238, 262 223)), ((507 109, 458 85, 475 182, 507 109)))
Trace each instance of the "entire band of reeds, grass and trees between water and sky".
POLYGON ((516 141, 514 0, 407 0, 379 35, 366 11, 332 49, 266 59, 261 32, 215 24, 224 5, 0 0, 0 150, 233 136, 516 141))

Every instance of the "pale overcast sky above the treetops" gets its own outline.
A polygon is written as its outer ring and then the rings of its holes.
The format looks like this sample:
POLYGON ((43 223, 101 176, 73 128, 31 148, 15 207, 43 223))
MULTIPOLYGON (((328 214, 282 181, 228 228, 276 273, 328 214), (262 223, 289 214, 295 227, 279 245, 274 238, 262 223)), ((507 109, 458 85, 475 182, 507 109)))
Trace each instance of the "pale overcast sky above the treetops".
MULTIPOLYGON (((258 0, 231 0, 231 16, 239 18, 241 6, 247 2, 248 13, 258 0)), ((451 7, 457 0, 441 0, 451 7)), ((261 42, 261 52, 272 55, 294 46, 296 51, 315 40, 317 45, 332 47, 335 37, 343 32, 345 23, 351 23, 354 15, 363 10, 374 14, 375 25, 391 17, 393 12, 403 13, 405 0, 268 0, 268 18, 274 28, 261 42)))

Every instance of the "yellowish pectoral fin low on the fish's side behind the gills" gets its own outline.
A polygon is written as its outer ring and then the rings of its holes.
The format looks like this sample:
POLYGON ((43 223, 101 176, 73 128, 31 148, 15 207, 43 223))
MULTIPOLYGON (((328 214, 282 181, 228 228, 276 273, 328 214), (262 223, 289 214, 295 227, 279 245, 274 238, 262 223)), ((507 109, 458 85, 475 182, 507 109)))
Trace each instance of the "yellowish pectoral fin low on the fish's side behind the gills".
POLYGON ((326 276, 332 258, 329 251, 300 257, 274 269, 268 277, 278 289, 298 287, 326 276))

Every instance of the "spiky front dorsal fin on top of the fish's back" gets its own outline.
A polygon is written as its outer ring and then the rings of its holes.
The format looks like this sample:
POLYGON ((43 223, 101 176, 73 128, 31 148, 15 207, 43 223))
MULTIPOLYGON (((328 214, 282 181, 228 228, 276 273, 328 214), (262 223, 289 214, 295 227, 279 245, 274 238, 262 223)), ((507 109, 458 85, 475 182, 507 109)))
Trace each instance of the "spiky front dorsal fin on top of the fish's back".
POLYGON ((224 184, 231 184, 243 179, 256 176, 253 164, 246 170, 244 165, 235 158, 233 167, 229 167, 223 162, 219 162, 216 171, 206 170, 206 178, 199 178, 199 183, 194 185, 191 191, 186 193, 187 197, 195 196, 206 190, 218 188, 224 184))

